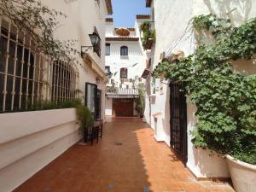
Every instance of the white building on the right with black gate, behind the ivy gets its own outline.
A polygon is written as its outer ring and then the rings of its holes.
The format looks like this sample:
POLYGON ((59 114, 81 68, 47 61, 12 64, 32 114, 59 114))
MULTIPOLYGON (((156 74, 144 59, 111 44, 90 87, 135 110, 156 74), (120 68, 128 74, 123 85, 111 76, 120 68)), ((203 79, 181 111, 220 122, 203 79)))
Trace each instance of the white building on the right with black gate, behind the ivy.
MULTIPOLYGON (((255 1, 203 1, 203 0, 147 0, 147 7, 151 8, 151 20, 156 31, 156 44, 151 49, 148 59, 152 61, 151 72, 158 65, 163 56, 182 50, 185 56, 194 52, 195 36, 188 34, 189 20, 195 15, 210 13, 230 18, 235 26, 249 20, 256 15, 255 1), (189 36, 190 35, 190 36, 189 36)), ((255 74, 256 67, 253 61, 236 61, 234 67, 241 73, 255 74)), ((190 131, 195 129, 194 105, 186 103, 183 97, 183 118, 179 118, 179 133, 171 133, 174 119, 170 108, 174 105, 170 101, 170 82, 147 77, 146 109, 144 116, 148 124, 154 129, 154 137, 159 142, 165 142, 182 156, 184 164, 194 173, 195 177, 230 177, 225 160, 218 155, 210 156, 209 152, 195 148, 191 143, 190 131), (171 104, 170 104, 171 103, 171 104), (170 123, 171 122, 171 123, 170 123), (176 134, 182 134, 178 137, 176 134), (177 141, 175 138, 177 137, 177 141), (177 143, 179 146, 176 146, 177 143), (177 147, 183 148, 178 149, 177 147)), ((175 87, 172 86, 173 89, 175 87)), ((189 100, 188 100, 189 101, 189 100)))

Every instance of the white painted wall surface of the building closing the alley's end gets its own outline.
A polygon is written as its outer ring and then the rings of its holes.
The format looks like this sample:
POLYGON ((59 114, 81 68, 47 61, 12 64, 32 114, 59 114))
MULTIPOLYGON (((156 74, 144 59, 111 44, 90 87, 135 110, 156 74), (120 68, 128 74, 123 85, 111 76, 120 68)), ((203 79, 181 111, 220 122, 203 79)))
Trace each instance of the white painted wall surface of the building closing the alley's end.
MULTIPOLYGON (((129 38, 139 38, 139 26, 143 20, 136 20, 134 24, 135 32, 131 32, 128 36, 129 38)), ((111 37, 120 37, 114 31, 114 23, 113 22, 106 22, 106 38, 111 37)), ((120 81, 120 68, 126 67, 128 69, 127 79, 136 79, 140 78, 143 74, 144 68, 146 67, 146 59, 147 56, 143 51, 143 47, 141 41, 108 41, 106 42, 110 44, 110 55, 105 56, 106 66, 110 67, 111 73, 113 76, 111 79, 114 80, 115 86, 119 87, 121 84, 120 81), (128 56, 121 56, 120 55, 120 48, 122 46, 128 47, 128 56)), ((110 82, 110 80, 109 80, 110 82)), ((137 83, 139 83, 137 81, 137 83)), ((137 83, 135 85, 137 85, 137 83)), ((111 84, 107 84, 111 86, 111 84)), ((125 88, 126 85, 131 88, 131 82, 124 82, 122 87, 125 88)), ((106 115, 112 115, 112 99, 106 98, 106 115)), ((137 115, 136 110, 134 111, 134 115, 137 115)))

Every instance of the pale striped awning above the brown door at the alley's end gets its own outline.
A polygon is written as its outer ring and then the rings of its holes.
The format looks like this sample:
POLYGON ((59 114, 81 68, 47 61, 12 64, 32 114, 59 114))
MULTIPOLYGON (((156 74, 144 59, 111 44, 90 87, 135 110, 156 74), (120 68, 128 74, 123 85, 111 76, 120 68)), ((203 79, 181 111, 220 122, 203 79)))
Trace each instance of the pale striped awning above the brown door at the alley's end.
POLYGON ((108 87, 106 95, 108 98, 138 98, 138 90, 108 87))

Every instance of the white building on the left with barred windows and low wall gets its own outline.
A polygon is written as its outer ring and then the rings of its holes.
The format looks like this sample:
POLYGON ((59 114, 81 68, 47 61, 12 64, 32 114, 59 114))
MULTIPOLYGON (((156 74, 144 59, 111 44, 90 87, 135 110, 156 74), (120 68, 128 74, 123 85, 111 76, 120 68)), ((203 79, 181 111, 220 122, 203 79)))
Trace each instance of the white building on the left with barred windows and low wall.
POLYGON ((26 109, 28 102, 80 97, 96 119, 104 119, 105 17, 112 14, 111 0, 41 2, 67 15, 60 20, 56 39, 77 40, 78 50, 92 46, 89 34, 95 32, 100 40, 79 57, 80 65, 64 59, 49 62, 47 55, 32 47, 37 42, 28 44, 26 36, 22 43, 24 37, 9 18, 0 17, 0 191, 4 192, 15 189, 81 138, 74 108, 9 112, 26 109), (23 52, 22 47, 26 47, 23 52))

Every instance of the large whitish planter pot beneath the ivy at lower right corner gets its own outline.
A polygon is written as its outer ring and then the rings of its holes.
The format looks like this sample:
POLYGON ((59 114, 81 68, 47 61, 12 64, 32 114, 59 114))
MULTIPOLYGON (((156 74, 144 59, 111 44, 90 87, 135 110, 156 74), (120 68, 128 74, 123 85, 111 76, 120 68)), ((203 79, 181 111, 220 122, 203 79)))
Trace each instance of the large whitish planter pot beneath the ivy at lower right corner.
POLYGON ((227 155, 230 176, 236 192, 256 192, 256 166, 227 155))

